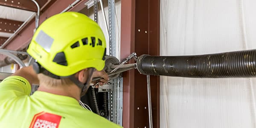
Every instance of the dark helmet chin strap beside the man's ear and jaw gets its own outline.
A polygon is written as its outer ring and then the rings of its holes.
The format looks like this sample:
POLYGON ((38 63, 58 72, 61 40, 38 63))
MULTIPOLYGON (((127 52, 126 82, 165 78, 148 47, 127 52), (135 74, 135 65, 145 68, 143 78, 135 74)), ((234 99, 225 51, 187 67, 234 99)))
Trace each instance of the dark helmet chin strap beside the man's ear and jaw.
POLYGON ((70 76, 70 80, 76 84, 79 88, 81 88, 81 97, 86 93, 87 88, 90 86, 90 80, 93 77, 93 72, 95 71, 95 68, 88 68, 88 75, 86 83, 81 83, 77 77, 75 77, 75 74, 70 76))

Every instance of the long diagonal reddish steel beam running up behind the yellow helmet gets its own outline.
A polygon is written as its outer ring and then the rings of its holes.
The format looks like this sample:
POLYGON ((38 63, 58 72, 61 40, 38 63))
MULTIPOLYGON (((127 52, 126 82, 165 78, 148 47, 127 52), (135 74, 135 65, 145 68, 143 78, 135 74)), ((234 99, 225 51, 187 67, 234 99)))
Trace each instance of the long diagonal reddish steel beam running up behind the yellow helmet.
MULTIPOLYGON (((88 0, 81 0, 81 2, 85 2, 88 0)), ((39 24, 41 24, 44 20, 46 20, 48 17, 58 14, 62 12, 64 9, 66 9, 69 5, 71 5, 74 2, 74 0, 56 0, 55 3, 52 4, 47 10, 45 10, 40 15, 39 24)), ((78 3, 78 4, 79 4, 78 3)), ((75 9, 76 6, 73 7, 75 9)), ((85 5, 84 5, 85 7, 85 5)), ((72 9, 71 9, 72 10, 72 9)), ((29 42, 31 41, 33 31, 35 29, 35 20, 32 20, 30 23, 28 23, 24 29, 22 29, 18 35, 10 41, 9 44, 4 47, 4 49, 10 49, 10 50, 19 50, 27 47, 29 42)), ((0 55, 0 60, 3 59, 5 56, 0 55)))

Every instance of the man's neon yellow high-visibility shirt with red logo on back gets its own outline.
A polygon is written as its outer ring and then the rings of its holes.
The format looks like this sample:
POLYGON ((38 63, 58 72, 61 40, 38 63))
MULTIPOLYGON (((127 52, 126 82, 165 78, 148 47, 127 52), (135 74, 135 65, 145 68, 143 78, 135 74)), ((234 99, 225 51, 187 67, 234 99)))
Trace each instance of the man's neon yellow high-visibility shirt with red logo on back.
POLYGON ((0 83, 0 128, 121 128, 69 96, 35 91, 20 76, 0 83))

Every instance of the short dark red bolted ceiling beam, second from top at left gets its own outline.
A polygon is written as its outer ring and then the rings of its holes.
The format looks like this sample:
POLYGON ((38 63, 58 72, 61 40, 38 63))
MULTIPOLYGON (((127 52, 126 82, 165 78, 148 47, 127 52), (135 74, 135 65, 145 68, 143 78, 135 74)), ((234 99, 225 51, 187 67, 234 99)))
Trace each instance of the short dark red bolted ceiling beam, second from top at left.
POLYGON ((14 33, 23 22, 0 18, 0 32, 14 33))

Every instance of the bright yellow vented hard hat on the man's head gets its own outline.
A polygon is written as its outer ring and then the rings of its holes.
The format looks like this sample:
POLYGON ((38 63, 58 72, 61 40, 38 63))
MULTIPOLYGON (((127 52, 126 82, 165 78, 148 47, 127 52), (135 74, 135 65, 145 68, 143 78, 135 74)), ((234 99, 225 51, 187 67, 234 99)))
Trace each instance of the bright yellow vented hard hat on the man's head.
POLYGON ((65 12, 38 27, 27 52, 50 73, 70 76, 89 67, 102 70, 106 41, 102 29, 89 17, 65 12))

